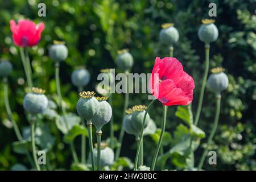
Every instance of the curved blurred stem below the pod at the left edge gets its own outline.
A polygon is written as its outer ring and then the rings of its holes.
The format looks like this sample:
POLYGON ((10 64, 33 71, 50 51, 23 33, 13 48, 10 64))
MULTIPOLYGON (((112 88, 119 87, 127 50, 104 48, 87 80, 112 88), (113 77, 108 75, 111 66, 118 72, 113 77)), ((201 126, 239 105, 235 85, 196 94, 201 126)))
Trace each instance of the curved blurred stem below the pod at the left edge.
POLYGON ((22 140, 22 135, 20 134, 19 131, 19 127, 17 125, 17 123, 14 121, 13 119, 13 113, 11 113, 11 108, 10 108, 10 104, 9 104, 9 97, 8 97, 8 84, 7 84, 7 78, 3 78, 3 94, 5 97, 5 108, 6 108, 6 112, 8 114, 8 117, 11 121, 11 123, 13 123, 13 128, 14 128, 14 132, 16 134, 16 137, 18 138, 18 140, 22 140))

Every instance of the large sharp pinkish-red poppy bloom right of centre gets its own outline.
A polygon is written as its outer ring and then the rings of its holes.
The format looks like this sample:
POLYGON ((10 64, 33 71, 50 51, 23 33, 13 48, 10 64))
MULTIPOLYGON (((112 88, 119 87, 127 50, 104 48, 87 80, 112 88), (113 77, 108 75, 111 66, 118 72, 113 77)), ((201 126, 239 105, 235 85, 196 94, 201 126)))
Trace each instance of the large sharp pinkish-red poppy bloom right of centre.
POLYGON ((188 105, 193 100, 195 82, 174 57, 156 57, 149 84, 151 93, 163 105, 188 105))

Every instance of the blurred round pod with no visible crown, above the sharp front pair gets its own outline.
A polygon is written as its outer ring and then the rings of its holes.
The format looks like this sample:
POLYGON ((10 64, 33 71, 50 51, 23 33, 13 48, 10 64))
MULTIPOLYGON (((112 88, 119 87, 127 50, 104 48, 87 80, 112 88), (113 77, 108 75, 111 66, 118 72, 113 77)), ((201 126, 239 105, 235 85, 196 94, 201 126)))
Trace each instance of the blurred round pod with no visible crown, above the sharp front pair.
POLYGON ((85 68, 78 68, 72 72, 71 81, 77 87, 85 86, 90 81, 90 73, 85 68))

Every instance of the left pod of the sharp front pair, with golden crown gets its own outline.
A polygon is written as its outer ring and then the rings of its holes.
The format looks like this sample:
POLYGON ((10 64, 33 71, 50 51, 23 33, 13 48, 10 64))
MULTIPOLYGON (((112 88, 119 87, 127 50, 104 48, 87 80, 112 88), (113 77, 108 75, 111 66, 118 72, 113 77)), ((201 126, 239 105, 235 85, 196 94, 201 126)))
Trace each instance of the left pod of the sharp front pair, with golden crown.
POLYGON ((79 95, 81 98, 76 104, 77 113, 81 118, 86 120, 87 125, 92 124, 92 118, 100 110, 100 104, 97 99, 93 97, 94 92, 80 92, 79 95))

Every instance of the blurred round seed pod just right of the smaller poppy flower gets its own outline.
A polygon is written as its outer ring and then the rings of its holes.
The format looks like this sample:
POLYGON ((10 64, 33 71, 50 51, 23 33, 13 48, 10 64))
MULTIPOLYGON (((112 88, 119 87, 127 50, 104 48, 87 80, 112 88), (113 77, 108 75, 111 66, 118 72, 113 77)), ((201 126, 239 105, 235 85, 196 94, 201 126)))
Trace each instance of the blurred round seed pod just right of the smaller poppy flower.
POLYGON ((54 41, 54 44, 49 48, 49 57, 56 63, 64 61, 68 57, 68 48, 64 45, 64 42, 54 41))

